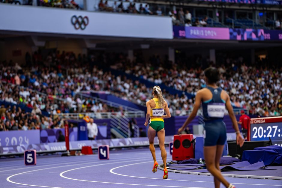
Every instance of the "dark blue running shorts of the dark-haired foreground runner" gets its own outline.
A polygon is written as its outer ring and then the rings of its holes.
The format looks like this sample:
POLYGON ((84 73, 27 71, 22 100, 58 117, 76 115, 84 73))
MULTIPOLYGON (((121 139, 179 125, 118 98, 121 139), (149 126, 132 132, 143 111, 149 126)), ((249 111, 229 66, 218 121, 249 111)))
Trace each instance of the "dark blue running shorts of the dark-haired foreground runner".
POLYGON ((226 127, 223 121, 207 121, 204 125, 204 146, 224 145, 226 142, 226 127))

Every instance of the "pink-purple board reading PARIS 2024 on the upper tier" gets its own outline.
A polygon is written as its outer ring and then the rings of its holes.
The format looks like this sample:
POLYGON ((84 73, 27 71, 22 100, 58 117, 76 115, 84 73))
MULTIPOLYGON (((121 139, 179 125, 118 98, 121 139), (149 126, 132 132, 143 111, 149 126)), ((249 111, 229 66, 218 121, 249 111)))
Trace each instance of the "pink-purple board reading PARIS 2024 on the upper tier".
POLYGON ((228 28, 185 27, 186 38, 229 40, 228 28))

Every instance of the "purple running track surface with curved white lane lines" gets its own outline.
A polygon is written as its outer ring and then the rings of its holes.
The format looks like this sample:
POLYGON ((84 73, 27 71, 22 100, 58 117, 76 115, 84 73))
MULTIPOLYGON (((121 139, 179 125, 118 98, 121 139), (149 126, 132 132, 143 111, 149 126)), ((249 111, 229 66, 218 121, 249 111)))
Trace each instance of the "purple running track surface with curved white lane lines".
MULTIPOLYGON (((159 148, 156 148, 162 164, 159 148)), ((168 161, 171 156, 168 152, 168 161)), ((213 177, 205 175, 152 173, 149 148, 110 151, 110 160, 97 155, 38 157, 36 166, 25 166, 23 158, 0 160, 0 188, 10 187, 214 187, 213 177)), ((236 188, 278 188, 281 180, 226 178, 236 188)), ((224 186, 221 185, 221 188, 224 186)))

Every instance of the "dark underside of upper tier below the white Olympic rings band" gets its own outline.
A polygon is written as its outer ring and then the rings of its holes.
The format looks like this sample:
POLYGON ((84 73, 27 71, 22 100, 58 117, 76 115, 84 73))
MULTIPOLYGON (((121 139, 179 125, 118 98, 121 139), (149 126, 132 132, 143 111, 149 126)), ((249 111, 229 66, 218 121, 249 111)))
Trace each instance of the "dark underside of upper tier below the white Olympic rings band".
POLYGON ((259 49, 282 47, 280 41, 237 41, 237 40, 202 40, 202 39, 141 39, 126 37, 102 37, 102 36, 79 36, 62 34, 38 34, 28 32, 9 32, 5 34, 0 31, 0 41, 11 41, 18 38, 24 38, 29 43, 45 44, 48 41, 75 40, 81 47, 88 49, 143 49, 143 46, 149 45, 153 48, 171 47, 174 49, 259 49))

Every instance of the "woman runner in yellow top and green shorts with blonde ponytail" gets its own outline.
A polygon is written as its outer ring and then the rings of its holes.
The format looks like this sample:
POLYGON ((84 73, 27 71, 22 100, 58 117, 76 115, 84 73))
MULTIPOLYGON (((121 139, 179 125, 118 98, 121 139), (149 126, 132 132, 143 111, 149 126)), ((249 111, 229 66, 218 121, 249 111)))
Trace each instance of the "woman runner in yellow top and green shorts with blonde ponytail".
POLYGON ((164 179, 167 179, 167 151, 164 148, 164 119, 170 118, 170 109, 168 108, 167 102, 164 100, 164 97, 162 95, 161 88, 159 86, 155 86, 153 88, 153 96, 154 98, 151 100, 148 100, 146 102, 147 106, 147 114, 146 114, 146 122, 145 126, 148 125, 149 121, 149 128, 148 128, 148 138, 150 142, 150 151, 153 156, 154 160, 154 166, 153 166, 153 172, 157 172, 158 162, 156 160, 156 151, 154 147, 154 139, 156 136, 156 132, 158 134, 159 139, 159 146, 161 150, 161 156, 164 162, 164 179), (164 115, 164 112, 166 112, 166 115, 164 115))

